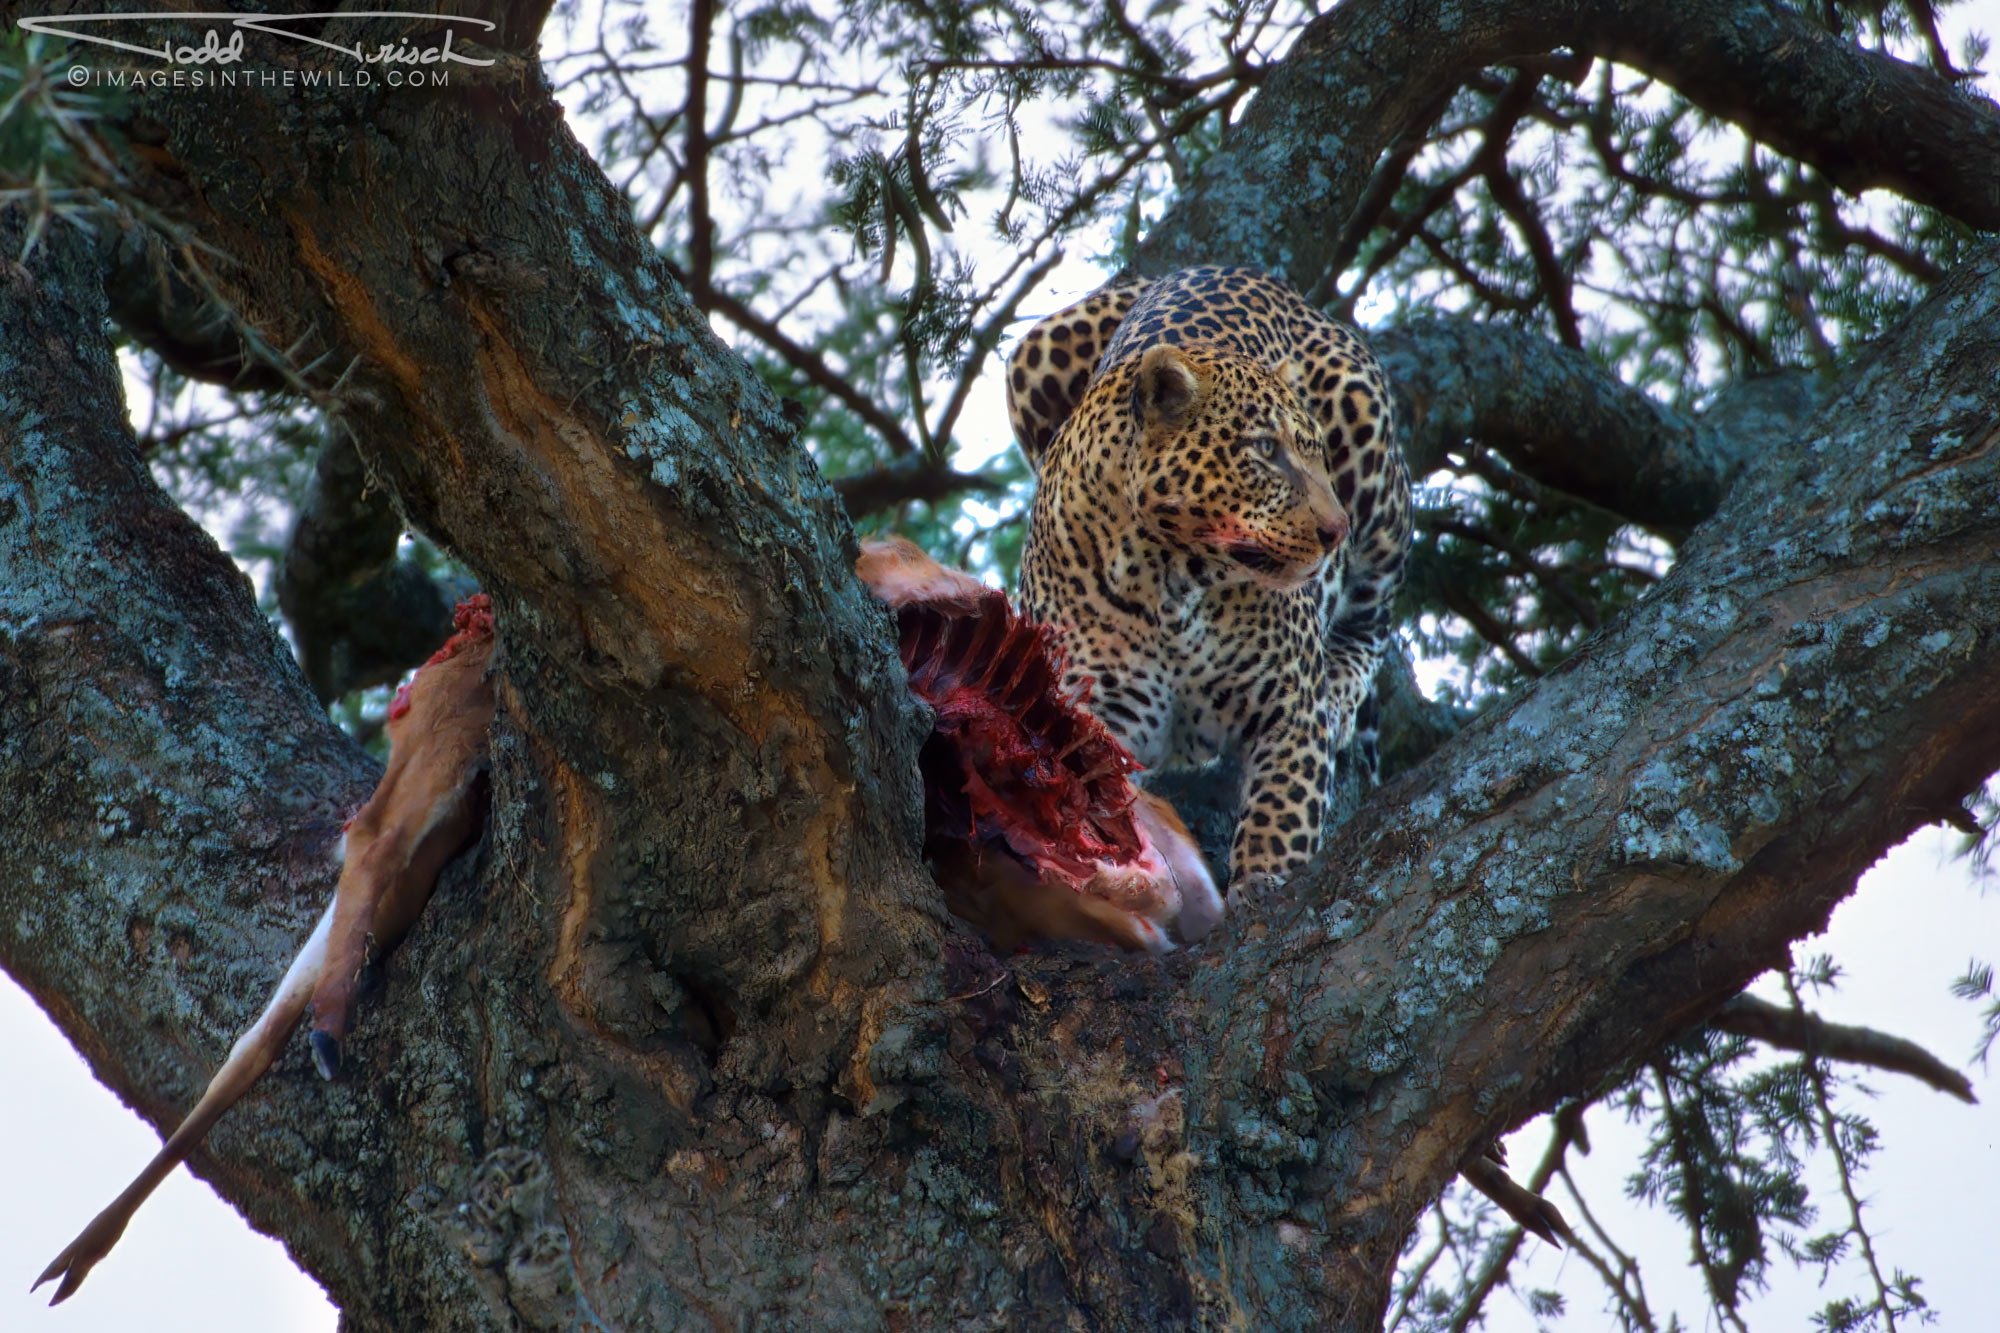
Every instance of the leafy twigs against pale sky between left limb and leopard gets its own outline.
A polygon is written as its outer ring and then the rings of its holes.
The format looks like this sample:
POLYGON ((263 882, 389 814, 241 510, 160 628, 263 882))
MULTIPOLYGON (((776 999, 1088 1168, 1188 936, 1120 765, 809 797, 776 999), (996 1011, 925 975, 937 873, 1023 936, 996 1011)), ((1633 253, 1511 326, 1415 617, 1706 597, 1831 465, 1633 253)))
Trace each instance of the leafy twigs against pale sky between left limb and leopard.
MULTIPOLYGON (((710 28, 688 10, 668 30, 608 4, 552 66, 696 302, 808 406, 828 476, 904 476, 916 494, 1000 442, 1000 388, 970 388, 1046 300, 1060 250, 1130 246, 1308 16, 848 0, 710 28)), ((1024 470, 1012 454, 980 468, 1004 498, 982 486, 890 514, 1010 574, 1024 470)))

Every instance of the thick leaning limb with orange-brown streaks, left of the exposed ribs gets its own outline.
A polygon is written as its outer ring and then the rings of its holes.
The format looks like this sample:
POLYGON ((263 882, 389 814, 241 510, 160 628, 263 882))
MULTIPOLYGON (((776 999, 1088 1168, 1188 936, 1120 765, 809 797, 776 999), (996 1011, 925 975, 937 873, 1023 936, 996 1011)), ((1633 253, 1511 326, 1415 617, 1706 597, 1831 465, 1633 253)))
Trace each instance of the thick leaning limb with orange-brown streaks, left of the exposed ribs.
MULTIPOLYGON (((754 805, 694 775, 728 767, 722 737, 770 745, 768 773, 744 781, 796 801, 796 837, 722 883, 674 877, 686 963, 718 1003, 794 1005, 820 1029, 836 975, 924 949, 934 907, 910 851, 912 775, 894 763, 916 719, 880 669, 882 618, 846 572, 838 502, 632 230, 536 68, 454 70, 440 98, 384 90, 360 112, 374 132, 350 172, 286 164, 286 126, 308 114, 288 92, 230 98, 220 128, 188 98, 140 110, 170 184, 200 186, 162 186, 162 206, 244 260, 240 308, 270 312, 272 342, 320 330, 362 358, 364 460, 494 594, 512 715, 546 747, 538 765, 574 783, 570 819, 630 833, 650 811, 606 793, 686 801, 690 827, 656 827, 632 855, 708 867, 724 857, 708 843, 754 805), (634 703, 606 713, 608 693, 634 703), (718 823, 696 837, 702 819, 718 823), (908 843, 850 835, 898 825, 908 843), (734 895, 758 907, 734 925, 704 915, 734 895), (902 925, 854 931, 876 911, 902 925)), ((312 114, 358 112, 338 94, 312 114)), ((784 1053, 794 1039, 846 1059, 832 1035, 766 1037, 756 1059, 772 1067, 804 1069, 802 1049, 784 1053)))

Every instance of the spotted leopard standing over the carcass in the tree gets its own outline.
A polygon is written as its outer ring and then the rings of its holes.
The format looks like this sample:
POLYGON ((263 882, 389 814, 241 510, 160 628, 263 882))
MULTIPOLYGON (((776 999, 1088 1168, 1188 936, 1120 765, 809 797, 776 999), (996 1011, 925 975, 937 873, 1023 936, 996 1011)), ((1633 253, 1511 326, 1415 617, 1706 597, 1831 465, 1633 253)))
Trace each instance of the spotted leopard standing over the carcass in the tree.
POLYGON ((1372 683, 1412 532, 1380 360, 1282 280, 1204 266, 1042 318, 1006 386, 1036 474, 1024 610, 1142 777, 1240 761, 1230 899, 1284 885, 1328 831, 1336 757, 1380 781, 1372 683))

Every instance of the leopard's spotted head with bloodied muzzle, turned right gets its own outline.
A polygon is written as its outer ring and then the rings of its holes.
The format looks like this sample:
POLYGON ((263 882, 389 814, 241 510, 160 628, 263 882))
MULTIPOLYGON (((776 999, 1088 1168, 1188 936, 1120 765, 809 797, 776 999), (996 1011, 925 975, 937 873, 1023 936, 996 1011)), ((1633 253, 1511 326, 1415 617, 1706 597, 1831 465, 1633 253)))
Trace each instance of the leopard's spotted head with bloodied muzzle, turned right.
POLYGON ((1322 426, 1284 378, 1216 348, 1152 346, 1132 374, 1126 498, 1206 582, 1292 590, 1348 536, 1322 426))

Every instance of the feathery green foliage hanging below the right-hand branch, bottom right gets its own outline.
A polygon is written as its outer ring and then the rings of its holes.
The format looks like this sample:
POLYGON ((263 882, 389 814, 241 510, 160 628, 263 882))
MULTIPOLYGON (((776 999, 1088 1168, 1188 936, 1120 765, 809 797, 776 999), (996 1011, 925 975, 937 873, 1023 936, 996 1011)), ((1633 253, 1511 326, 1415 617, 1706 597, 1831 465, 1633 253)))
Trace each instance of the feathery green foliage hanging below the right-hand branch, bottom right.
MULTIPOLYGON (((1962 993, 1986 997, 1990 969, 1974 973, 1962 993)), ((1790 1009, 1804 1015, 1800 993, 1834 989, 1840 969, 1830 957, 1814 957, 1778 979, 1790 1009)), ((1856 1111, 1856 1095, 1872 1093, 1810 1049, 1792 1055, 1694 1029, 1590 1097, 1642 1129, 1644 1149, 1626 1193, 1662 1209, 1686 1233, 1712 1327, 1738 1333, 1756 1327, 1750 1303, 1780 1259, 1816 1269, 1820 1287, 1834 1289, 1814 1313, 1814 1327, 1890 1329, 1934 1317, 1920 1279, 1886 1265, 1868 1227, 1860 1179, 1882 1143, 1856 1111), (1860 1295, 1840 1293, 1856 1281, 1864 1287, 1860 1295)), ((1554 1161, 1572 1145, 1588 1145, 1582 1113, 1584 1103, 1556 1113, 1554 1161)), ((1568 1185, 1564 1209, 1572 1223, 1578 1215, 1586 1223, 1570 1251, 1602 1279, 1616 1327, 1678 1329, 1678 1317, 1662 1321, 1654 1313, 1638 1259, 1618 1247, 1566 1167, 1560 1179, 1568 1185)), ((1410 1239, 1390 1329, 1476 1327, 1490 1293, 1514 1289, 1508 1261, 1520 1237, 1512 1227, 1494 1227, 1492 1211, 1474 1199, 1466 1187, 1454 1187, 1410 1239)), ((1560 1313, 1548 1293, 1514 1289, 1514 1295, 1538 1325, 1560 1313)))

